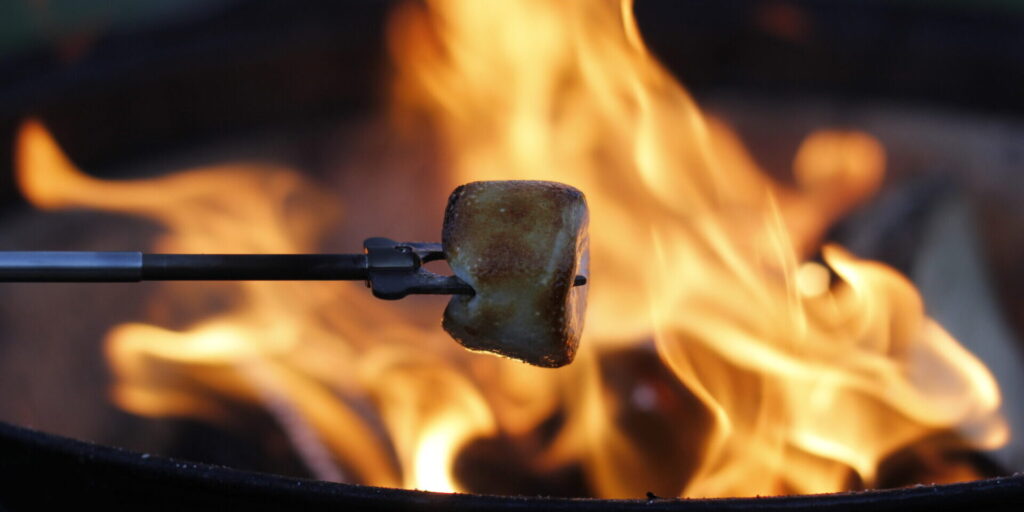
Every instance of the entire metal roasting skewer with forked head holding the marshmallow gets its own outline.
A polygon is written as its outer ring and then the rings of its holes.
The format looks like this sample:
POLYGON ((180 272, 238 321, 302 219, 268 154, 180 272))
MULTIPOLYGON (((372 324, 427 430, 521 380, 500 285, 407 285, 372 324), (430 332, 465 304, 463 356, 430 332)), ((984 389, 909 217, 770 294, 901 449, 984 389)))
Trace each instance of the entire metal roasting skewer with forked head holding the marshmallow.
MULTIPOLYGON (((374 296, 472 295, 455 275, 423 268, 444 259, 440 244, 367 239, 362 254, 143 254, 0 251, 0 282, 366 281, 374 296)), ((573 286, 587 283, 578 275, 573 286)))

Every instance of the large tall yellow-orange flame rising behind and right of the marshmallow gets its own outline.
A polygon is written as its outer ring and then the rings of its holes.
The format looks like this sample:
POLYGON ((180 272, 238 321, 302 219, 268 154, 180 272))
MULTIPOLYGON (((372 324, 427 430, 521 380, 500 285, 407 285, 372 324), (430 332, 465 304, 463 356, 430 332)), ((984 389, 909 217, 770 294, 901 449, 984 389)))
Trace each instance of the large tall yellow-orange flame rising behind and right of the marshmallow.
MULTIPOLYGON (((882 459, 938 429, 984 425, 962 433, 981 447, 1005 440, 991 375, 903 278, 838 247, 824 250, 835 286, 827 267, 801 261, 880 185, 878 140, 813 133, 795 158, 799 186, 780 185, 654 61, 631 2, 427 5, 392 33, 398 100, 443 135, 453 183, 586 190, 585 350, 653 336, 713 419, 677 493, 840 490, 851 471, 871 485, 882 459)), ((599 433, 572 450, 599 496, 639 496, 656 461, 595 392, 579 398, 580 428, 599 433)))

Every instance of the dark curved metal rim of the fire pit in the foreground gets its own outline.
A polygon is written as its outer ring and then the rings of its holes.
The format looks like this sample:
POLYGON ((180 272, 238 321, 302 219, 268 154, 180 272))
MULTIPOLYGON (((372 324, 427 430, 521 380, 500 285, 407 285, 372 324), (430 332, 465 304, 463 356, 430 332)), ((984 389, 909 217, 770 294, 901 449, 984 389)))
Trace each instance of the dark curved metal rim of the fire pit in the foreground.
POLYGON ((74 502, 145 510, 718 511, 1022 510, 1024 474, 833 495, 594 500, 440 494, 290 478, 176 461, 0 423, 0 510, 74 502))

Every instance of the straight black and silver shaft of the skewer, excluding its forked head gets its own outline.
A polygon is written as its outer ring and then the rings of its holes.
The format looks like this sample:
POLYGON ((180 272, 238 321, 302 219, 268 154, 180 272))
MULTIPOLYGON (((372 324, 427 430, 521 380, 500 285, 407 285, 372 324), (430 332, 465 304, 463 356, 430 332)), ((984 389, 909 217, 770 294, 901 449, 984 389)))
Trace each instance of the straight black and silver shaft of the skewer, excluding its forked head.
POLYGON ((365 254, 0 252, 0 282, 361 281, 365 254))

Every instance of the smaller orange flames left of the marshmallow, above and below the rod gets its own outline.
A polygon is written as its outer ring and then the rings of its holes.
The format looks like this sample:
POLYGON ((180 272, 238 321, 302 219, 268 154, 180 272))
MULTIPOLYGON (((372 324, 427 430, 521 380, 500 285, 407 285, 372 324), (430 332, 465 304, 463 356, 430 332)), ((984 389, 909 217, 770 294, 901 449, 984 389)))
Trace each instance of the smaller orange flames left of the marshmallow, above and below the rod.
MULTIPOLYGON (((79 171, 36 121, 20 130, 17 163, 22 189, 37 206, 150 217, 167 228, 156 243, 166 252, 312 251, 313 239, 339 210, 300 173, 266 166, 99 180, 79 171)), ((463 384, 468 394, 452 390, 461 381, 443 372, 443 361, 390 356, 394 347, 452 346, 443 333, 409 325, 360 284, 238 283, 226 285, 228 293, 218 287, 168 290, 165 298, 172 301, 199 294, 232 305, 185 330, 126 324, 110 333, 108 357, 117 377, 112 395, 119 406, 147 416, 217 419, 229 414, 232 400, 267 404, 285 415, 279 418, 283 424, 299 417, 315 432, 306 447, 337 459, 345 470, 322 477, 351 474, 378 485, 458 488, 449 474, 454 454, 490 431, 486 407, 474 400, 468 384, 463 384), (379 338, 370 339, 368 332, 379 338), (435 375, 434 387, 425 388, 415 377, 420 375, 435 375), (450 390, 452 397, 437 389, 450 390), (375 399, 383 400, 388 430, 383 436, 360 413, 375 399)))

